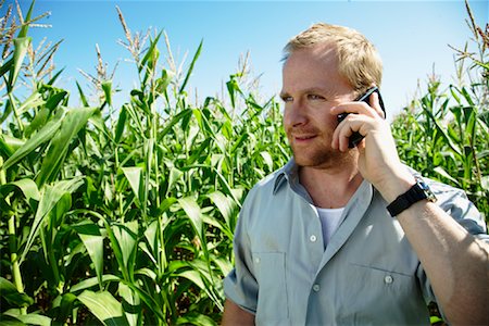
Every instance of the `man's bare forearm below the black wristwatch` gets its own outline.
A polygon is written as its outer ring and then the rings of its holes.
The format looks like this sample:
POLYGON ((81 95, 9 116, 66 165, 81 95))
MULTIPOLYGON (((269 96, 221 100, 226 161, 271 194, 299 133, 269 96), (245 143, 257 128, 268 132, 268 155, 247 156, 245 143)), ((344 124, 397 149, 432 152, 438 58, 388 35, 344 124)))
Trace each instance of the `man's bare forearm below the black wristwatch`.
MULTIPOLYGON (((396 191, 385 189, 391 202, 396 191)), ((488 324, 489 246, 468 234, 436 203, 413 204, 397 216, 428 276, 438 303, 451 324, 488 324)))

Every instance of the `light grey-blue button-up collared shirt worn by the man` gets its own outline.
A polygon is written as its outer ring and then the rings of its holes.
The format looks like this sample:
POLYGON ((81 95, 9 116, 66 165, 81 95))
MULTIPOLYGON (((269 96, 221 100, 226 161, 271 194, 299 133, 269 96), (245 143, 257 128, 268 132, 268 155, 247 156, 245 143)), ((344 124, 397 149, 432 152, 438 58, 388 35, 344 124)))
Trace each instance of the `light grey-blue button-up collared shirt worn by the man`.
MULTIPOLYGON (((438 204, 471 234, 485 223, 464 192, 425 179, 438 204)), ((258 325, 429 324, 436 301, 386 201, 364 180, 326 250, 321 221, 290 161, 249 192, 235 231, 226 297, 258 325)))

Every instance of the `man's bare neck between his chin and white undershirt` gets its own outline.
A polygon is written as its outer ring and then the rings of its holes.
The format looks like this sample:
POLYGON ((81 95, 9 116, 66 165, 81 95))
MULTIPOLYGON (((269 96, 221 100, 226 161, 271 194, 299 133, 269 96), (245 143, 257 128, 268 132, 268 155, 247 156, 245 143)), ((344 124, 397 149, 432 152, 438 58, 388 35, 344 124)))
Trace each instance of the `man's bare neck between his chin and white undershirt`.
POLYGON ((354 166, 327 170, 301 166, 299 180, 308 190, 314 205, 323 209, 339 209, 347 205, 363 178, 354 166))

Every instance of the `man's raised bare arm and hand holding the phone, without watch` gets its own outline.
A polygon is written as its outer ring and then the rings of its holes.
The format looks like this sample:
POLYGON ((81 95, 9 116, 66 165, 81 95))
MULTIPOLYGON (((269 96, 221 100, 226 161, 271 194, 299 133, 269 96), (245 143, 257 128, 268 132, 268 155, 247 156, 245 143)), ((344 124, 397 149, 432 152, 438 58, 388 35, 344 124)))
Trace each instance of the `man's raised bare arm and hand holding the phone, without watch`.
MULTIPOLYGON (((360 131, 359 171, 391 203, 415 179, 399 160, 388 123, 373 108, 346 103, 331 110, 351 114, 336 130, 333 147, 348 150, 348 137, 360 131)), ((489 325, 489 244, 477 239, 436 203, 422 200, 396 216, 416 251, 438 304, 450 324, 489 325)))

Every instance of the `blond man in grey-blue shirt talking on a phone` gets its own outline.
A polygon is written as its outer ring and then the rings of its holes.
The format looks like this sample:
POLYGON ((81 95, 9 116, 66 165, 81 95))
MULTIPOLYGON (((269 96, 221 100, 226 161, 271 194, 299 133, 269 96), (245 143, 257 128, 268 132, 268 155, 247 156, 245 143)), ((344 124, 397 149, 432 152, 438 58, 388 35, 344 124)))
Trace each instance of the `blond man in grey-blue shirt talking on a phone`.
POLYGON ((355 30, 316 24, 285 53, 293 159, 242 206, 223 324, 419 325, 436 301, 449 323, 487 325, 479 212, 400 162, 376 92, 369 104, 354 101, 380 85, 374 47, 355 30), (350 148, 355 131, 364 139, 350 148))

